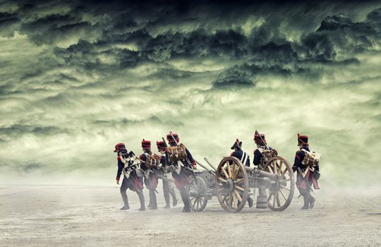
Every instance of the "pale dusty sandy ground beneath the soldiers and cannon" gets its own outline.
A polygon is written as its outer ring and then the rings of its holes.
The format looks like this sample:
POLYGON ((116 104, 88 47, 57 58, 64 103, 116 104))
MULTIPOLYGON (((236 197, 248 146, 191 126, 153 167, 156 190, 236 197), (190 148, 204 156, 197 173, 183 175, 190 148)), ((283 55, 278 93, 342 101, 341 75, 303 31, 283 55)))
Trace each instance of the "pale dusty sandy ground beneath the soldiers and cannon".
MULTIPOLYGON (((164 205, 159 184, 158 201, 164 205)), ((147 191, 145 190, 146 198, 147 191)), ((0 246, 381 246, 381 187, 320 190, 313 210, 120 211, 116 186, 0 185, 0 246)))

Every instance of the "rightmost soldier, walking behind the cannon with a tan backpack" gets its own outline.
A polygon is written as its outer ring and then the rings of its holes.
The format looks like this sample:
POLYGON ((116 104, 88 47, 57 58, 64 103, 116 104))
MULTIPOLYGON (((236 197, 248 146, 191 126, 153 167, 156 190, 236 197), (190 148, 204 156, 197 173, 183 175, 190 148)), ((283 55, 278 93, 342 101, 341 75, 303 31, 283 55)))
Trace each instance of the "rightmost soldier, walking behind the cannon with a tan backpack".
POLYGON ((298 171, 296 175, 296 187, 298 188, 301 195, 303 195, 304 204, 301 208, 302 210, 307 210, 308 208, 313 208, 315 205, 315 198, 311 195, 311 186, 315 189, 319 189, 317 179, 320 177, 319 165, 314 167, 306 166, 303 164, 303 159, 306 157, 306 151, 310 152, 308 145, 308 136, 300 135, 298 133, 298 146, 300 150, 296 152, 294 166, 292 170, 298 171))

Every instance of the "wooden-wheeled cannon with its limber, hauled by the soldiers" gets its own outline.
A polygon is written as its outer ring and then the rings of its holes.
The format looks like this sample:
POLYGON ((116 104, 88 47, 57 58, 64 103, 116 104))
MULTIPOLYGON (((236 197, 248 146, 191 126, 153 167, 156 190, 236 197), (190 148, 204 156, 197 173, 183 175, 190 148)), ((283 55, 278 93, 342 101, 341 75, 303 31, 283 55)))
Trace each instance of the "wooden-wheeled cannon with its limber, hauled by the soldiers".
MULTIPOLYGON (((207 159, 205 159, 207 161, 207 159)), ((212 165, 207 162, 210 167, 212 165)), ((207 200, 217 196, 226 212, 239 212, 245 206, 250 188, 258 188, 257 207, 285 210, 294 196, 294 172, 284 158, 273 155, 258 168, 245 167, 236 157, 224 157, 217 169, 195 171, 188 184, 191 209, 200 212, 207 200)))

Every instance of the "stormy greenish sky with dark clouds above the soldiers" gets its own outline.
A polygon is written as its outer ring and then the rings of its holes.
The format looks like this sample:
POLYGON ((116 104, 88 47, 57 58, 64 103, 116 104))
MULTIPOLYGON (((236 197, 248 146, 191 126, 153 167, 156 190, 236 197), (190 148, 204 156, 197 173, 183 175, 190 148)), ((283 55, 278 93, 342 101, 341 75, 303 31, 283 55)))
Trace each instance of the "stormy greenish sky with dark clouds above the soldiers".
POLYGON ((116 143, 168 131, 217 164, 255 129, 380 176, 380 2, 0 1, 0 47, 0 182, 114 183, 116 143))

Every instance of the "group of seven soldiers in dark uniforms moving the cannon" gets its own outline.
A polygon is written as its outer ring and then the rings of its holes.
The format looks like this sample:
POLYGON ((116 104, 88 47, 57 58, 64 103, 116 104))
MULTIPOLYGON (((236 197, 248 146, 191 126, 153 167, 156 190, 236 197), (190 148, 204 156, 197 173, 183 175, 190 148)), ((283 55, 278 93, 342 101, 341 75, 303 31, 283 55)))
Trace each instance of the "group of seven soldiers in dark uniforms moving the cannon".
MULTIPOLYGON (((169 143, 169 147, 167 143, 163 140, 157 141, 157 150, 160 155, 153 155, 151 149, 150 140, 142 140, 141 146, 143 149, 143 153, 138 157, 139 165, 133 165, 134 169, 130 169, 128 174, 126 171, 126 158, 135 157, 133 152, 128 152, 126 149, 126 145, 124 143, 118 143, 115 145, 115 150, 118 159, 118 172, 116 174, 116 183, 119 184, 119 180, 123 174, 123 181, 121 183, 121 197, 123 198, 123 207, 121 210, 129 210, 128 204, 128 196, 127 189, 129 188, 131 191, 135 191, 138 194, 140 200, 140 208, 138 210, 145 211, 145 198, 143 195, 143 183, 145 187, 149 191, 150 201, 147 207, 150 207, 151 210, 157 210, 157 185, 158 185, 158 174, 160 174, 162 179, 163 186, 163 194, 165 205, 164 208, 170 208, 170 198, 172 198, 172 205, 177 205, 176 193, 174 191, 173 186, 171 186, 169 179, 167 178, 167 174, 171 173, 174 184, 176 188, 179 190, 181 195, 181 200, 183 201, 183 212, 191 212, 191 204, 189 201, 188 192, 186 186, 188 184, 189 178, 193 173, 193 169, 196 169, 196 162, 193 159, 191 152, 184 147, 184 152, 186 153, 184 159, 180 160, 171 160, 169 157, 168 150, 171 147, 179 146, 179 135, 176 133, 169 133, 167 135, 167 140, 169 143), (152 157, 157 157, 157 163, 155 161, 155 166, 152 166, 152 157), (175 168, 175 169, 173 169, 175 168), (142 171, 145 176, 141 176, 140 171, 142 171)), ((265 139, 264 134, 259 134, 255 131, 254 141, 257 145, 257 149, 254 151, 254 159, 253 164, 256 167, 260 167, 263 164, 264 157, 262 152, 264 150, 272 150, 272 147, 267 145, 267 141, 265 139)), ((306 154, 310 153, 309 145, 308 145, 308 136, 298 134, 298 147, 299 150, 296 152, 294 165, 292 167, 293 171, 297 172, 296 176, 296 187, 298 188, 301 196, 303 196, 303 210, 313 208, 315 204, 315 198, 310 194, 312 188, 318 189, 317 180, 320 177, 319 166, 318 164, 313 167, 309 167, 308 164, 304 164, 306 154)), ((249 155, 242 150, 242 142, 238 139, 234 142, 234 145, 231 146, 232 157, 236 157, 241 161, 243 165, 247 167, 250 166, 250 157, 249 155)), ((259 189, 259 195, 265 194, 265 191, 261 191, 259 189)), ((253 207, 253 199, 248 197, 248 206, 253 207)))

